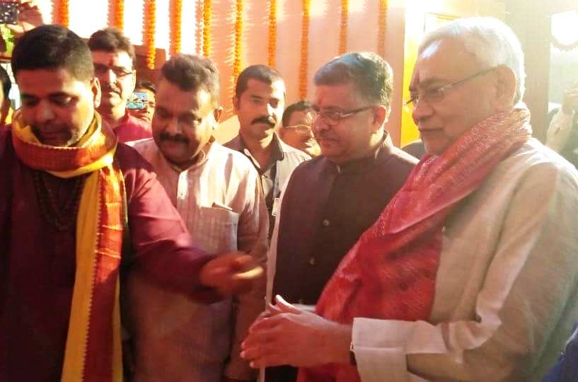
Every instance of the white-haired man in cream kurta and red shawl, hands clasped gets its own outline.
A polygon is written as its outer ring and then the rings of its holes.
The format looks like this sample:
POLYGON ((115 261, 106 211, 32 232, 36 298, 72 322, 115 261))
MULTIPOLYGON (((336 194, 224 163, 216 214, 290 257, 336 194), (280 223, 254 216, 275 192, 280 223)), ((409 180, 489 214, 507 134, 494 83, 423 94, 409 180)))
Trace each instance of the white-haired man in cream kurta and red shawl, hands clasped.
POLYGON ((578 317, 578 173, 531 137, 524 55, 492 18, 425 37, 426 154, 310 313, 277 298, 243 342, 305 381, 540 381, 578 317))

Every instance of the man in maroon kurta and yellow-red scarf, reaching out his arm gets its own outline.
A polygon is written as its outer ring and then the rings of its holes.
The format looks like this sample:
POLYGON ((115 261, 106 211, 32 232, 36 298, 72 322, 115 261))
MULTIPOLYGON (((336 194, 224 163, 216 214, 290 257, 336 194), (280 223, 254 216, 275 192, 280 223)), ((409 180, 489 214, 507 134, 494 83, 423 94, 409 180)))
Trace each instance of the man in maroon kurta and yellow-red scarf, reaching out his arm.
POLYGON ((12 68, 22 109, 0 132, 0 380, 122 381, 121 263, 207 302, 262 269, 195 249, 151 166, 95 112, 78 35, 35 28, 12 68))

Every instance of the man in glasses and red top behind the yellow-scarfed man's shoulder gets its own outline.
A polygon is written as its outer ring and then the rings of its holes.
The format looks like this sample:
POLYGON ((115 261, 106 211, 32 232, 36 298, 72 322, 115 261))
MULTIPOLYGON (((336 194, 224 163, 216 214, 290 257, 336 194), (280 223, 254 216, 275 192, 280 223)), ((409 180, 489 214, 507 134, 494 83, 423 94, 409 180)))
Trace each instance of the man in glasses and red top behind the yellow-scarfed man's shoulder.
POLYGON ((137 81, 136 56, 130 40, 119 30, 106 28, 91 35, 88 47, 103 92, 98 108, 103 120, 114 129, 121 142, 151 138, 150 122, 133 117, 127 110, 127 100, 137 81))

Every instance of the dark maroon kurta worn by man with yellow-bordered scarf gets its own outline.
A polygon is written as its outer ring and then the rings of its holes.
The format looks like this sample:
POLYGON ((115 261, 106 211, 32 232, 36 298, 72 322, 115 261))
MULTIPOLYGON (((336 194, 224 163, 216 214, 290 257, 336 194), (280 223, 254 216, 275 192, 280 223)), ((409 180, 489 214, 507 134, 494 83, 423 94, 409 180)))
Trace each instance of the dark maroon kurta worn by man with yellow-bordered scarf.
MULTIPOLYGON (((146 272, 168 289, 212 299, 198 283, 209 260, 193 248, 178 212, 149 163, 119 144, 132 257, 128 272, 146 272)), ((46 177, 45 177, 46 178, 46 177)), ((50 176, 63 203, 74 179, 50 176)), ((11 132, 0 131, 0 381, 59 381, 76 270, 76 222, 59 232, 42 217, 33 172, 18 160, 11 132)))

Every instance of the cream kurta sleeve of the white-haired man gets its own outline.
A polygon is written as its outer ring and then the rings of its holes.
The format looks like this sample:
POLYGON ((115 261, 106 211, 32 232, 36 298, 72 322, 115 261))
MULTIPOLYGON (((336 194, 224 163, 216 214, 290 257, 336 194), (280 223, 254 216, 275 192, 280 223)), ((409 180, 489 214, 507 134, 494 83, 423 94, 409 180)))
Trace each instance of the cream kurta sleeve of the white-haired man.
POLYGON ((544 371, 538 369, 550 366, 561 350, 550 351, 550 341, 560 343, 553 337, 566 327, 570 335, 578 317, 574 170, 538 163, 503 202, 507 211, 499 221, 487 211, 474 216, 501 229, 470 318, 356 318, 352 342, 362 381, 535 381, 544 371))

